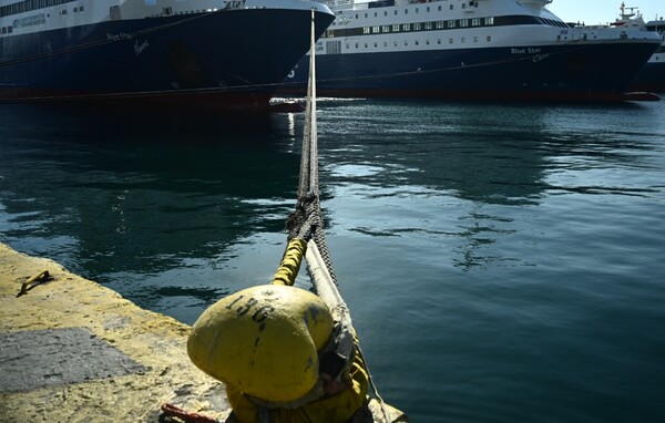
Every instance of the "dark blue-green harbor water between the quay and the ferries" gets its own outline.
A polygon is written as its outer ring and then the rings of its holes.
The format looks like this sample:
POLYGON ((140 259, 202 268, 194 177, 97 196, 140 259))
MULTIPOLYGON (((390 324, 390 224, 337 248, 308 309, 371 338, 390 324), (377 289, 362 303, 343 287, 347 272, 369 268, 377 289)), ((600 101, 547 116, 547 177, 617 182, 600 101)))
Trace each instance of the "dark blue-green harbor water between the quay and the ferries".
MULTIPOLYGON (((0 116, 1 241, 187 323, 270 280, 303 114, 0 116)), ((665 102, 324 100, 318 120, 328 243, 388 402, 665 421, 665 102)))

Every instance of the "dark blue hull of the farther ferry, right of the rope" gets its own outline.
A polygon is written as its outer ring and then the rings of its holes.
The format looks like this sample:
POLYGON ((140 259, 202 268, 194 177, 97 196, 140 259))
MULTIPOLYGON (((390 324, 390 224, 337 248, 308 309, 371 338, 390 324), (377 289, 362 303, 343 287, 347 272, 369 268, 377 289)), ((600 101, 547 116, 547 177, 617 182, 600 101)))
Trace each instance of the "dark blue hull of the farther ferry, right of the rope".
MULTIPOLYGON (((654 42, 460 49, 317 56, 320 95, 452 100, 617 101, 654 42)), ((309 56, 286 80, 305 81, 309 56)))

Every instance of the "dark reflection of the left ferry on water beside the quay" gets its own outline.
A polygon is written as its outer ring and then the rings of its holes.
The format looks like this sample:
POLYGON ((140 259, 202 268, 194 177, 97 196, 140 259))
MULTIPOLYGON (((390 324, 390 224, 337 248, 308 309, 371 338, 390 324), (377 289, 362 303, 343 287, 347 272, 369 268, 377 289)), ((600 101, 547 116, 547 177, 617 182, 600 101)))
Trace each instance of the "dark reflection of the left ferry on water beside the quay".
POLYGON ((196 269, 223 266, 254 234, 282 231, 293 208, 299 156, 287 114, 3 107, 1 239, 143 306, 218 299, 228 286, 196 269))

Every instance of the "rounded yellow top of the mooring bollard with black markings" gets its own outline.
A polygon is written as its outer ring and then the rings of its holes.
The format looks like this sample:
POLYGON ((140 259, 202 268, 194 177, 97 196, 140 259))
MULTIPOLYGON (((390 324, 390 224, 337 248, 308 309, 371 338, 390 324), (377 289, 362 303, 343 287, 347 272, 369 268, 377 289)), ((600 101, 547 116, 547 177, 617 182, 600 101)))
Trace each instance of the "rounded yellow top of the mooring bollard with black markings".
POLYGON ((295 401, 318 378, 318 350, 332 331, 323 300, 300 288, 266 285, 231 295, 194 323, 192 362, 213 378, 270 402, 295 401))

